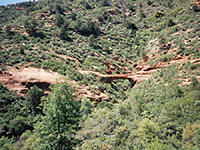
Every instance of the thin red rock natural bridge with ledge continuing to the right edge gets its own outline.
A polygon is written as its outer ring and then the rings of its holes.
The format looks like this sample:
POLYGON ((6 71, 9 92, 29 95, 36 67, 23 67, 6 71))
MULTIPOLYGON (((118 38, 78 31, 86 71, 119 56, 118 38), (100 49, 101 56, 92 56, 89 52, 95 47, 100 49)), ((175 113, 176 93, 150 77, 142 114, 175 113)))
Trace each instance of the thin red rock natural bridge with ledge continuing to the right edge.
MULTIPOLYGON (((156 58, 156 55, 153 56, 152 58, 156 58)), ((95 76, 97 76, 101 82, 103 83, 110 83, 112 84, 112 82, 114 80, 117 79, 125 79, 125 80, 129 80, 132 86, 135 86, 136 84, 147 80, 151 77, 152 73, 155 73, 157 71, 157 69, 159 68, 165 68, 169 65, 172 64, 182 64, 182 63, 186 63, 186 62, 190 62, 190 63, 200 63, 200 59, 191 59, 188 60, 188 56, 176 56, 175 58, 173 58, 171 61, 169 62, 158 62, 155 65, 149 65, 147 63, 149 57, 145 57, 141 63, 139 65, 136 65, 135 69, 137 70, 137 72, 131 72, 128 74, 101 74, 99 72, 95 72, 95 71, 87 71, 87 70, 79 70, 80 73, 82 74, 94 74, 95 76)))

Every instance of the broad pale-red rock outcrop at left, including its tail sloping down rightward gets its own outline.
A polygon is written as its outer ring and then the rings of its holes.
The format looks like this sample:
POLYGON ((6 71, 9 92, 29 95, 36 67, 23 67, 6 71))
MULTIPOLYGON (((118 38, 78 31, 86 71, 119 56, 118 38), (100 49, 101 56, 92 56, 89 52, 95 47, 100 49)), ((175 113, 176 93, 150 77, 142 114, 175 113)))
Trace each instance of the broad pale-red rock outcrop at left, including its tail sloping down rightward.
POLYGON ((49 95, 50 85, 59 82, 68 82, 77 89, 78 100, 81 100, 83 96, 95 101, 96 103, 101 100, 109 100, 107 93, 92 93, 90 92, 89 87, 79 85, 75 81, 68 81, 64 76, 53 71, 34 67, 21 68, 19 70, 7 67, 7 69, 7 71, 0 74, 0 82, 20 97, 24 97, 28 90, 34 85, 42 89, 45 95, 49 95))

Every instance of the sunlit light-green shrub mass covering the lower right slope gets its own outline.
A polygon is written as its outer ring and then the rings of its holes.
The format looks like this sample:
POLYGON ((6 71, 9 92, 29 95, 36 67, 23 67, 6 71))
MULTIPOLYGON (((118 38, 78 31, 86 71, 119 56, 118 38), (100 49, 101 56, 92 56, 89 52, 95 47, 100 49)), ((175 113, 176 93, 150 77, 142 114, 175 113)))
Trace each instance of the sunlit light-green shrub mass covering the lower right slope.
POLYGON ((169 82, 174 79, 175 69, 169 70, 162 75, 168 77, 168 86, 165 81, 152 86, 154 81, 149 80, 145 88, 140 85, 133 89, 126 101, 111 107, 98 104, 79 132, 84 139, 79 147, 92 149, 92 144, 98 149, 106 144, 110 149, 198 149, 199 123, 195 122, 200 119, 199 83, 179 87, 169 82))

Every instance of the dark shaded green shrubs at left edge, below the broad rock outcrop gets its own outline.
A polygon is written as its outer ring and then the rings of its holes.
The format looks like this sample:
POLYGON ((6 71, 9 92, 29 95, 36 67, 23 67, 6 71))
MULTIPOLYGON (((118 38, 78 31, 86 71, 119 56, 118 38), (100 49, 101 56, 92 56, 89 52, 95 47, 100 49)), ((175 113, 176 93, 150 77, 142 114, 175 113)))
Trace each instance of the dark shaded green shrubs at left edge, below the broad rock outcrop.
POLYGON ((0 84, 0 137, 18 138, 25 130, 32 130, 33 117, 28 116, 24 105, 21 99, 0 84))

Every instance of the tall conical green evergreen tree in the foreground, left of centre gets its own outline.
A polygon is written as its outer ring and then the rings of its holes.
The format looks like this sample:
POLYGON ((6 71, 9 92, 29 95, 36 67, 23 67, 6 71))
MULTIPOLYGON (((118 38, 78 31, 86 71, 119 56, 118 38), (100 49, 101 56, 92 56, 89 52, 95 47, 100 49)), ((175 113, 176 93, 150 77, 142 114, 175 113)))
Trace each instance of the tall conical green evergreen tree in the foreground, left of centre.
POLYGON ((76 145, 80 104, 74 90, 63 83, 55 85, 44 106, 44 116, 35 126, 36 149, 71 150, 76 145))

